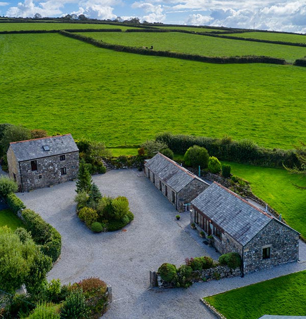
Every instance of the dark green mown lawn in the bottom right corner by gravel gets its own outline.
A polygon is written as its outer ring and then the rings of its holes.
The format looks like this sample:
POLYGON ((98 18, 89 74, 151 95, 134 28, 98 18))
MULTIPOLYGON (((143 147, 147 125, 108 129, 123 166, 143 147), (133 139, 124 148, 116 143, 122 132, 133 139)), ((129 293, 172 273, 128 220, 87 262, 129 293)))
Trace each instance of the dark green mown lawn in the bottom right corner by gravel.
POLYGON ((306 271, 206 297, 227 319, 306 313, 306 271))

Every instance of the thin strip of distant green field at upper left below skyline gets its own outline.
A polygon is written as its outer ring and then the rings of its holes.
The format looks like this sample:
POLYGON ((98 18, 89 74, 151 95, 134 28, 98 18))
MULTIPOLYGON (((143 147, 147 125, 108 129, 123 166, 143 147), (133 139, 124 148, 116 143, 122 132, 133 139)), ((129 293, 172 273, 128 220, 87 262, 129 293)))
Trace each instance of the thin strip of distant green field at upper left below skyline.
POLYGON ((56 23, 56 22, 17 22, 0 23, 0 31, 25 31, 25 30, 64 30, 64 29, 135 29, 133 27, 115 26, 114 24, 93 23, 56 23))

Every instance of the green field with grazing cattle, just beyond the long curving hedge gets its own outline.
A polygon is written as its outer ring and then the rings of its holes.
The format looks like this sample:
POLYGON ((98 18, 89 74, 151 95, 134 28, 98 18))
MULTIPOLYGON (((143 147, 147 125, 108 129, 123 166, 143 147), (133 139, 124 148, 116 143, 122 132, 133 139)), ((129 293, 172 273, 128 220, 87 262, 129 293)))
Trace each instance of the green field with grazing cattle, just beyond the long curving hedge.
POLYGON ((268 56, 284 58, 293 63, 296 59, 306 55, 306 47, 281 44, 239 41, 231 39, 199 36, 180 32, 169 33, 112 33, 86 32, 87 37, 102 40, 107 43, 127 46, 154 46, 154 50, 198 54, 208 57, 226 56, 268 56))

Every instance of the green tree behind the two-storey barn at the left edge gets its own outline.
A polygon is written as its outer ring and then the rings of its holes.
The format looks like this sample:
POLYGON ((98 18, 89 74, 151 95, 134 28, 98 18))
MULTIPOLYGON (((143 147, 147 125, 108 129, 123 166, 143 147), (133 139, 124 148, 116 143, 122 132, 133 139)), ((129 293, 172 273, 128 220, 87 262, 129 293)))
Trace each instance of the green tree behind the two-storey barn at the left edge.
POLYGON ((7 126, 4 130, 3 137, 0 140, 0 146, 3 154, 5 154, 10 146, 11 142, 24 141, 31 139, 31 131, 21 125, 7 126))

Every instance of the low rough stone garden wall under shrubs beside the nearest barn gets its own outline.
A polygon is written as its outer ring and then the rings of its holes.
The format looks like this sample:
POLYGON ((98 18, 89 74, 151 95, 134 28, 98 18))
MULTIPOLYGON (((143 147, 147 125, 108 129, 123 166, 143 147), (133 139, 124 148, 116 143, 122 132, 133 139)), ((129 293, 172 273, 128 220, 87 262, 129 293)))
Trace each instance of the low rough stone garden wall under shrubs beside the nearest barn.
MULTIPOLYGON (((209 269, 203 269, 202 271, 193 271, 194 282, 207 282, 211 280, 219 280, 222 278, 238 277, 241 276, 240 268, 231 269, 228 266, 217 265, 209 269)), ((157 272, 150 272, 150 286, 158 288, 176 288, 176 285, 168 283, 162 280, 161 276, 157 272)))

